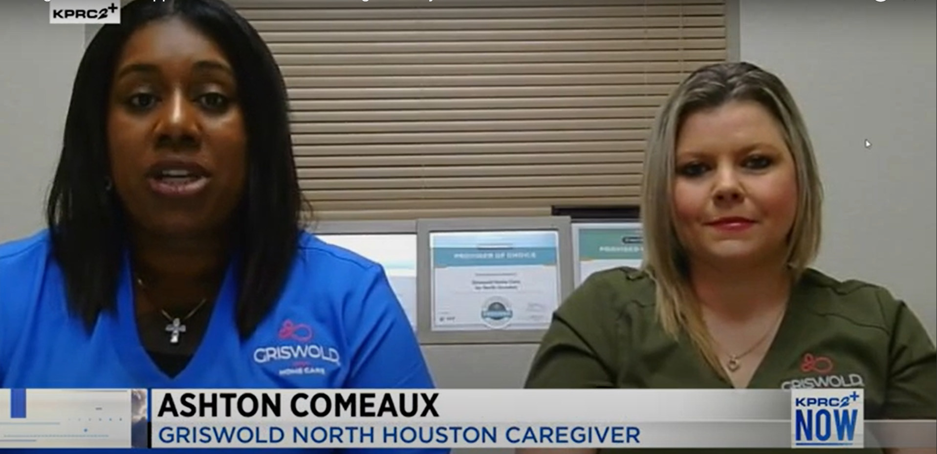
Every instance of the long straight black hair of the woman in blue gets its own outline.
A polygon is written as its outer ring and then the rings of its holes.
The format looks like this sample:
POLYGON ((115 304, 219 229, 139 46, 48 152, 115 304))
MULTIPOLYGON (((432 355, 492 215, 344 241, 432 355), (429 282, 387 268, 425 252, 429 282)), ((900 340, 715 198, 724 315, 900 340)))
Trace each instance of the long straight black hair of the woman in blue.
POLYGON ((104 25, 88 45, 72 86, 62 154, 46 218, 52 254, 66 283, 68 309, 91 330, 116 306, 126 248, 125 212, 111 190, 108 99, 117 59, 148 22, 180 18, 213 38, 238 81, 247 137, 245 197, 235 213, 241 256, 236 321, 242 338, 282 292, 296 255, 303 210, 292 155, 286 84, 257 31, 221 0, 136 0, 120 24, 104 25))

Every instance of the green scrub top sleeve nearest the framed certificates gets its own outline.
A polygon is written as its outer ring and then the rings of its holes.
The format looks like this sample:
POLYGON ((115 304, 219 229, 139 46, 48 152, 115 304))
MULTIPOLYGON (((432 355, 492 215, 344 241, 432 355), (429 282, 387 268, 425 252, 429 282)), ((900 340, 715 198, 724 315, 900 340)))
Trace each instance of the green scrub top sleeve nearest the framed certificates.
POLYGON ((608 276, 593 274, 559 306, 525 388, 616 387, 619 317, 608 276))

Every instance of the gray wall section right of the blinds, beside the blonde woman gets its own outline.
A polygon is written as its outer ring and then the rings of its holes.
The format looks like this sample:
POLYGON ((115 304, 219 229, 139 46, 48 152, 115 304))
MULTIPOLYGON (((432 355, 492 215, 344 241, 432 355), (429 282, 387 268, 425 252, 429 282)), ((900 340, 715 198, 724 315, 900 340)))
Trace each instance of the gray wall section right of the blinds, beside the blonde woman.
POLYGON ((825 184, 817 266, 937 324, 937 3, 741 0, 741 58, 779 73, 825 184), (865 148, 865 140, 871 148, 865 148))

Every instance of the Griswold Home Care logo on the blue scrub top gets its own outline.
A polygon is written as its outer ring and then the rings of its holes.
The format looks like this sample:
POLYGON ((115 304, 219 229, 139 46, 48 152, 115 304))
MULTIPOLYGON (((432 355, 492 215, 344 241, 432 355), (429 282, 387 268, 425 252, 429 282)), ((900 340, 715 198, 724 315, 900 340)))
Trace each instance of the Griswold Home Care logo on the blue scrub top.
POLYGON ((325 375, 326 367, 340 367, 338 349, 314 342, 314 334, 305 323, 284 320, 276 333, 279 342, 254 349, 254 362, 273 366, 280 376, 325 375))

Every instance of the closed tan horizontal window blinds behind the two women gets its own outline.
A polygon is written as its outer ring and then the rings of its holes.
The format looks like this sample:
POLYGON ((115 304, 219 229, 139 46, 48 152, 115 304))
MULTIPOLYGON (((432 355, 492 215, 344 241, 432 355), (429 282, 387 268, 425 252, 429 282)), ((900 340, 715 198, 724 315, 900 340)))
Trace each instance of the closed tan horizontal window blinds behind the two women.
POLYGON ((724 61, 717 0, 231 0, 286 77, 330 220, 637 202, 652 118, 724 61))

